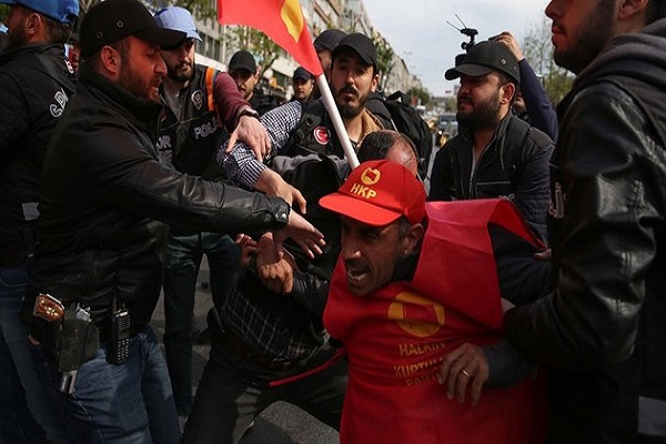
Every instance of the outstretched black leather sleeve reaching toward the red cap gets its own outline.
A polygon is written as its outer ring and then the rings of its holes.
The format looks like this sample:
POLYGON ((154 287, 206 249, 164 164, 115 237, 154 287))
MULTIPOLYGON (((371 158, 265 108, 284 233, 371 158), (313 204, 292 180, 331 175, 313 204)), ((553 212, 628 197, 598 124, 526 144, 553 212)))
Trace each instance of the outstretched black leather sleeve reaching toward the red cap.
POLYGON ((97 198, 112 206, 203 231, 261 231, 287 221, 283 200, 175 171, 143 148, 150 142, 141 134, 107 127, 90 139, 95 145, 82 145, 77 157, 97 198))

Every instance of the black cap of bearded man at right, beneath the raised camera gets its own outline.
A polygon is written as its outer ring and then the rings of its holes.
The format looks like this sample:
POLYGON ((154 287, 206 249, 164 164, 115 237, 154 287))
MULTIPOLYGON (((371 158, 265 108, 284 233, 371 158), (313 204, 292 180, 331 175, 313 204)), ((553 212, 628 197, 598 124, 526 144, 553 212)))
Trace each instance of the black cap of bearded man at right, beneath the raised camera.
POLYGON ((446 70, 444 77, 446 80, 453 80, 463 74, 477 77, 485 75, 491 71, 500 71, 508 75, 517 85, 521 84, 518 61, 504 43, 492 40, 470 48, 462 63, 446 70))

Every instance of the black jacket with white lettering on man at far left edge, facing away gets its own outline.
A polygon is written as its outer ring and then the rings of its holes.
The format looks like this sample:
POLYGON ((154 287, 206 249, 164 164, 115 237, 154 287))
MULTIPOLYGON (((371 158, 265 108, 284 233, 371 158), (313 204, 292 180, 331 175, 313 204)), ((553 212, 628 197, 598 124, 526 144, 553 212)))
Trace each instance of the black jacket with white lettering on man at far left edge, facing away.
POLYGON ((62 44, 24 44, 0 54, 0 254, 32 249, 47 145, 74 94, 62 44))

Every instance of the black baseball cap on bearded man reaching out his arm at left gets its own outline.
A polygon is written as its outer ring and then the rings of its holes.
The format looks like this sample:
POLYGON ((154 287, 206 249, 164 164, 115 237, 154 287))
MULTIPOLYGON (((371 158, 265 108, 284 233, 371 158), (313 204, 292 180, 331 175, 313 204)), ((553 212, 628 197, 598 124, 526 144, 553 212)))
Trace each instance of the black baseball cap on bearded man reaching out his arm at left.
POLYGON ((107 0, 95 4, 83 18, 80 34, 83 59, 129 36, 161 47, 175 47, 185 39, 184 32, 160 28, 138 0, 107 0))

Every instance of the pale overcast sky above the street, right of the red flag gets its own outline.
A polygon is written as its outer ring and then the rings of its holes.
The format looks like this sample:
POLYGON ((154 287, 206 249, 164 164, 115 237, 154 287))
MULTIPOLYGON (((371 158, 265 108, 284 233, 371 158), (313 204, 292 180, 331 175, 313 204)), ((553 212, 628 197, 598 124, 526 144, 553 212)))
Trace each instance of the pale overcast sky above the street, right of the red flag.
POLYGON ((539 23, 547 0, 364 0, 372 24, 434 95, 453 88, 444 71, 453 67, 467 40, 446 22, 478 30, 476 41, 504 30, 523 42, 526 31, 539 23))

